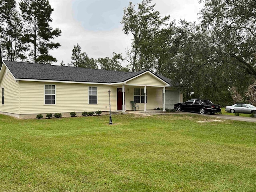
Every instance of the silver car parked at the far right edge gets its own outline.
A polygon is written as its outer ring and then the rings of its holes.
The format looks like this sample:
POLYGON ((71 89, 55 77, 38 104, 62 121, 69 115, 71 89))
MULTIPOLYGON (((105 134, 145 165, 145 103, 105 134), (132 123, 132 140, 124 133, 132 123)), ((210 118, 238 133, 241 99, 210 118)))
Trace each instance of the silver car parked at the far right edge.
POLYGON ((230 113, 253 113, 256 114, 256 107, 251 104, 237 103, 232 106, 226 106, 225 111, 230 113))

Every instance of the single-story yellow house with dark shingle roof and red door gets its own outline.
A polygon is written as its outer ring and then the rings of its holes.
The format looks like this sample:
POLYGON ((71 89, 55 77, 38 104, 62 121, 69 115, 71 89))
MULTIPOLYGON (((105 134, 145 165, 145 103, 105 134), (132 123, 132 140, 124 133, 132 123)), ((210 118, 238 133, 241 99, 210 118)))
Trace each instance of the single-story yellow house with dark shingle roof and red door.
POLYGON ((0 70, 0 114, 35 118, 37 114, 109 112, 174 108, 183 95, 169 78, 150 70, 120 72, 4 61, 0 70))

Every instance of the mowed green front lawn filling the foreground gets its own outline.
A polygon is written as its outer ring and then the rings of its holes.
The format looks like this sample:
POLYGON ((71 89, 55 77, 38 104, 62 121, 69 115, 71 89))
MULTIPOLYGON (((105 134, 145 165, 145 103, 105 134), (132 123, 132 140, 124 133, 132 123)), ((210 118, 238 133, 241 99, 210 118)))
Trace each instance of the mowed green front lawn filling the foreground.
POLYGON ((0 115, 0 191, 256 191, 255 123, 197 114, 108 120, 0 115))

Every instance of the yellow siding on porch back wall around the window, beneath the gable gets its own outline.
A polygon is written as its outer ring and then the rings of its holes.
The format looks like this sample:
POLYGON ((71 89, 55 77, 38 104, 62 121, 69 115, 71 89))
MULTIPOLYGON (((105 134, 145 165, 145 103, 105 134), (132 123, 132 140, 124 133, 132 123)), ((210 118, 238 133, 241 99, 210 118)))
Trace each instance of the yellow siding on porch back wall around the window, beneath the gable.
MULTIPOLYGON (((134 88, 144 88, 142 86, 126 86, 126 110, 132 110, 132 106, 130 101, 134 100, 134 88), (128 91, 129 89, 129 91, 128 91)), ((147 110, 153 110, 158 107, 162 107, 162 92, 163 88, 159 87, 147 87, 147 110)), ((140 110, 144 110, 144 103, 137 103, 139 105, 140 110)))

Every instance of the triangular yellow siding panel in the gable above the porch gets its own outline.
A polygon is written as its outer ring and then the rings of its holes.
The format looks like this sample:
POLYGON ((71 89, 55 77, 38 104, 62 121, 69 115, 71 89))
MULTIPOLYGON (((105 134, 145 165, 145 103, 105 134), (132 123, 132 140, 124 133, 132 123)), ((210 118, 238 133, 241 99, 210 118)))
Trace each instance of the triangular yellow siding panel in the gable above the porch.
POLYGON ((158 85, 158 86, 165 85, 163 82, 158 80, 156 77, 154 77, 148 73, 138 76, 138 77, 126 82, 126 84, 158 85))

